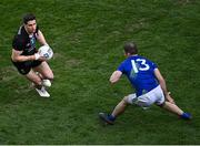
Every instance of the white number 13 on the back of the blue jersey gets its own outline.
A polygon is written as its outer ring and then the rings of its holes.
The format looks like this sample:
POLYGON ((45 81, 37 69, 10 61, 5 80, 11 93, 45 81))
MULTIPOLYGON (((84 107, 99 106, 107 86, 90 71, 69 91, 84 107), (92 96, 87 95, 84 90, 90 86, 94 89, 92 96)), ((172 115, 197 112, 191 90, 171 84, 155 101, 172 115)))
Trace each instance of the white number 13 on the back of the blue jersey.
POLYGON ((132 69, 134 71, 134 73, 138 73, 139 71, 147 71, 150 67, 146 63, 146 60, 143 60, 143 59, 137 59, 136 61, 131 60, 131 64, 132 64, 132 69), (139 65, 137 65, 137 64, 139 64, 139 65))

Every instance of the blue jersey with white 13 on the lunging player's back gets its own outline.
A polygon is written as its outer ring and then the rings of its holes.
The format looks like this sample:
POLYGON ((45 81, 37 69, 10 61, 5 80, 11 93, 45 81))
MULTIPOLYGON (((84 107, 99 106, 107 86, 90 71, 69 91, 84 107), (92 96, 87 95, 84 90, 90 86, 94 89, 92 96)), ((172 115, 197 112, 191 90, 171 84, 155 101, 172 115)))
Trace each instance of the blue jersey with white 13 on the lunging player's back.
MULTIPOLYGON (((140 96, 158 86, 154 76, 157 65, 140 55, 129 56, 120 65, 132 86, 137 90, 137 96, 140 96)), ((120 69, 120 67, 119 67, 120 69)))

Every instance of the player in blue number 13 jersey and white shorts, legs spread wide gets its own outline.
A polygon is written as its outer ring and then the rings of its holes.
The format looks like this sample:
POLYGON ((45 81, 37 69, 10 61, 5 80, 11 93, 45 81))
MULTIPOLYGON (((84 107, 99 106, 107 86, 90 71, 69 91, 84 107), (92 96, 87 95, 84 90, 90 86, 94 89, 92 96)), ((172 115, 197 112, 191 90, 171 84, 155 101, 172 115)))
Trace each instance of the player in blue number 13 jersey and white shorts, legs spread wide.
POLYGON ((138 49, 134 43, 127 43, 124 45, 124 55, 127 60, 112 73, 110 82, 112 84, 117 83, 121 75, 126 74, 132 87, 136 88, 136 93, 124 96, 111 114, 99 113, 103 122, 113 124, 117 116, 123 113, 129 104, 147 108, 153 103, 177 114, 181 118, 191 118, 189 113, 184 113, 176 105, 158 66, 146 58, 138 55, 138 49))

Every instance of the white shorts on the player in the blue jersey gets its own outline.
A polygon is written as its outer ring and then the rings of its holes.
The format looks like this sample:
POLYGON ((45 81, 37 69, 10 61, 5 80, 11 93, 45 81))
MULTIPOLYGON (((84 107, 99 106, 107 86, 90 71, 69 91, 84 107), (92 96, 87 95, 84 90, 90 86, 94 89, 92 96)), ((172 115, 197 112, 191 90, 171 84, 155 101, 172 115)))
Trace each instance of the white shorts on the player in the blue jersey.
POLYGON ((138 97, 136 93, 129 94, 127 102, 129 104, 137 104, 142 107, 148 107, 153 103, 156 103, 157 105, 161 105, 164 102, 164 95, 162 88, 160 87, 160 85, 158 85, 156 88, 138 97))

